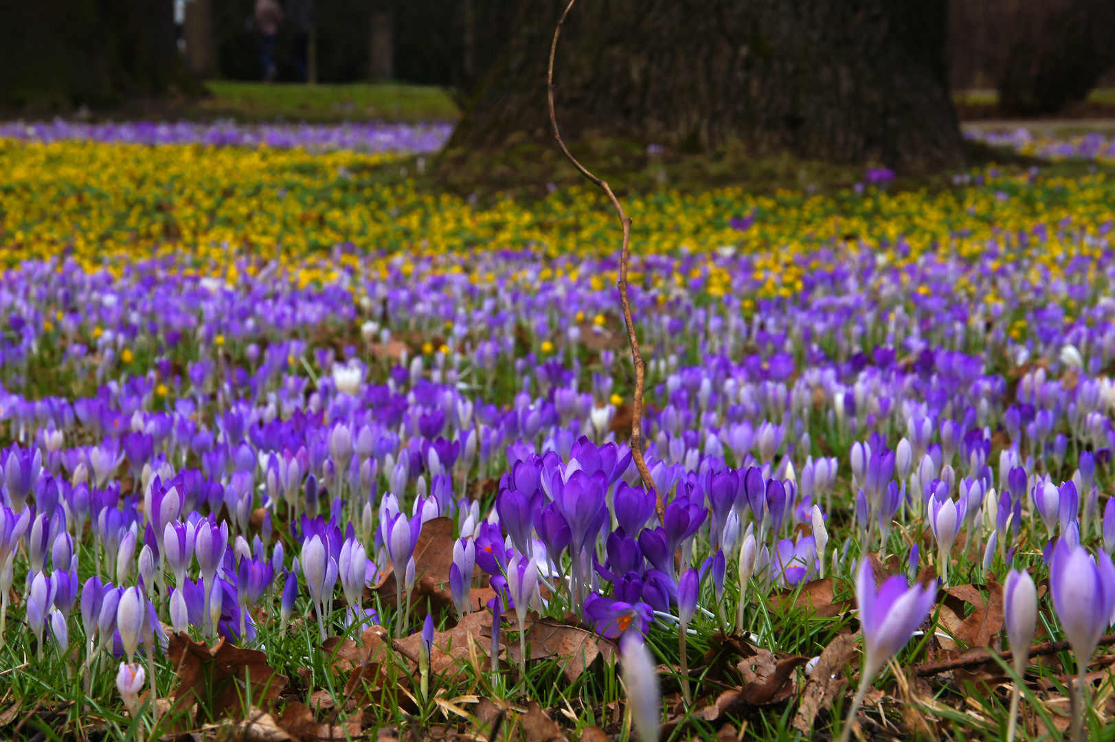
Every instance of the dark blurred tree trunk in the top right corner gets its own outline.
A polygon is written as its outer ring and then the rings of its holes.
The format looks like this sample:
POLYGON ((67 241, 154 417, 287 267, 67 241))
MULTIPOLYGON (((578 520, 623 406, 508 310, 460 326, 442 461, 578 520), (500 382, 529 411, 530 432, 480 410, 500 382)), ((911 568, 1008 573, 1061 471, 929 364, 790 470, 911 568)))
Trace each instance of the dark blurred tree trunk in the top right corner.
POLYGON ((1115 64, 1115 1, 1000 0, 999 105, 1043 114, 1084 100, 1115 64))

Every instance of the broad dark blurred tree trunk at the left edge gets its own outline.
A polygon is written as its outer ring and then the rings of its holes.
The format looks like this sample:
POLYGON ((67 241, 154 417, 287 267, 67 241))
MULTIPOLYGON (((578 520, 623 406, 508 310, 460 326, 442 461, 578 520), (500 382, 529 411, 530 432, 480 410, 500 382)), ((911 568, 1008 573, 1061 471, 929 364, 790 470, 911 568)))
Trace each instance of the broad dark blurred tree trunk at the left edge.
POLYGON ((0 0, 0 106, 49 110, 193 91, 172 0, 0 0))

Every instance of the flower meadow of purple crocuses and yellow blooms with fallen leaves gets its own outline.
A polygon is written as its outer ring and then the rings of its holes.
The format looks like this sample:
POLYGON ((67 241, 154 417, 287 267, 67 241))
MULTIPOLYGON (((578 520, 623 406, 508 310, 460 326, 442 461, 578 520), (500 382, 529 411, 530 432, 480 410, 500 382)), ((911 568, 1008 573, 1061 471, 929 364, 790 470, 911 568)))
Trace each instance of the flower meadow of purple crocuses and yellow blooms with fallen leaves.
POLYGON ((1104 733, 1103 173, 627 199, 644 482, 595 194, 57 138, 0 141, 6 736, 1104 733))

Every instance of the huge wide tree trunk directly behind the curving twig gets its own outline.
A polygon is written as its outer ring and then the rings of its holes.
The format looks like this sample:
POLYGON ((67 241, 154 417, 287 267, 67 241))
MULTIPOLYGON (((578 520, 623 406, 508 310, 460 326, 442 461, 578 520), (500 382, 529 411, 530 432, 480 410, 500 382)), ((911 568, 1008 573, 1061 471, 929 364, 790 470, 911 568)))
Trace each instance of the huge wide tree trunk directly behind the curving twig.
MULTIPOLYGON (((546 64, 568 0, 523 0, 449 147, 552 135, 546 64)), ((903 171, 963 165, 946 0, 580 0, 554 62, 562 134, 741 143, 903 171)))

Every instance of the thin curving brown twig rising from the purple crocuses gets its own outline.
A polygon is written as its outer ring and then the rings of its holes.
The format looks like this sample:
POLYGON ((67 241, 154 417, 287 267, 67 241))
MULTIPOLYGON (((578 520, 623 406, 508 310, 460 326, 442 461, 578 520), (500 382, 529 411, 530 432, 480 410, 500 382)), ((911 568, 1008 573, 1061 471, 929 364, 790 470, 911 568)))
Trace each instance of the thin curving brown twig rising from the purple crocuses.
POLYGON ((634 407, 631 413, 631 457, 634 459, 634 465, 639 470, 639 476, 642 479, 642 483, 647 488, 647 491, 655 492, 655 512, 658 513, 659 522, 665 524, 666 511, 662 503, 662 494, 655 488, 655 480, 651 479, 650 470, 647 469, 647 462, 643 461, 642 457, 642 386, 646 367, 642 362, 642 355, 639 353, 639 339, 636 337, 634 320, 631 319, 631 303, 628 301, 627 276, 628 260, 631 254, 631 218, 623 212, 623 206, 620 204, 620 200, 615 197, 615 194, 612 192, 612 189, 608 185, 608 183, 590 173, 584 165, 576 161, 576 157, 574 157, 569 151, 569 147, 565 146, 565 142, 561 138, 561 132, 558 131, 558 116, 554 114, 554 56, 558 54, 558 37, 561 36, 561 27, 565 22, 565 17, 569 16, 569 11, 573 9, 574 2, 576 2, 576 0, 570 0, 570 3, 565 6, 565 10, 558 20, 558 28, 554 29, 553 44, 550 46, 550 69, 546 75, 546 95, 549 96, 550 102, 550 123, 554 126, 554 138, 558 139, 558 144, 561 146, 561 151, 565 154, 565 157, 573 163, 573 166, 576 167, 581 174, 595 183, 604 193, 608 194, 608 197, 612 202, 612 208, 615 209, 615 213, 620 218, 620 224, 623 227, 623 249, 620 253, 620 278, 619 281, 615 282, 615 286, 620 290, 620 303, 623 306, 623 321, 627 324, 628 341, 631 345, 631 362, 634 364, 634 398, 631 401, 634 407))

